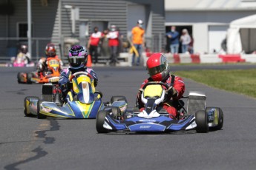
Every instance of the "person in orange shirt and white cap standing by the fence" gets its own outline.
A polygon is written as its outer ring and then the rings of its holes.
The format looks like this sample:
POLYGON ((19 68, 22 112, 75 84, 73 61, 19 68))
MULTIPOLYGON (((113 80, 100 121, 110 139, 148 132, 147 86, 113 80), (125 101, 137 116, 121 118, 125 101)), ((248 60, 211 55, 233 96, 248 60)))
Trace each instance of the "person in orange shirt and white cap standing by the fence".
POLYGON ((145 30, 142 28, 143 21, 138 20, 137 21, 137 26, 134 27, 131 30, 131 45, 134 45, 136 48, 137 52, 139 53, 139 56, 137 56, 137 60, 135 61, 135 52, 132 56, 132 65, 139 66, 140 65, 140 56, 142 53, 142 49, 144 48, 144 33, 145 30))

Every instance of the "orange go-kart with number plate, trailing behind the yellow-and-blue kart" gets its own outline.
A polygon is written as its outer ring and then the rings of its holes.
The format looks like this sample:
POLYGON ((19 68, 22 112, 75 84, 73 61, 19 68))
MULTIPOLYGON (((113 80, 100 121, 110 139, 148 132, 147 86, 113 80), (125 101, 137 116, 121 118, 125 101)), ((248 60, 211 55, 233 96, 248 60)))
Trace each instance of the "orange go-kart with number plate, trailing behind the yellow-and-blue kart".
POLYGON ((59 81, 61 65, 59 58, 47 58, 47 71, 45 72, 19 72, 19 84, 45 84, 59 81))

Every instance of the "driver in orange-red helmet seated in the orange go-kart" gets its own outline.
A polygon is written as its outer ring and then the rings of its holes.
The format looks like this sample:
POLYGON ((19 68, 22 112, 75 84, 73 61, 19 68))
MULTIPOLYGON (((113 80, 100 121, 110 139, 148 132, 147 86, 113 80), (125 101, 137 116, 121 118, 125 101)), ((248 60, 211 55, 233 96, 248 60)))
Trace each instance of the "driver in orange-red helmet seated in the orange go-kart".
POLYGON ((40 58, 39 60, 39 64, 37 66, 37 72, 39 73, 40 76, 44 76, 45 75, 45 72, 48 71, 48 68, 47 68, 47 61, 50 59, 50 58, 56 58, 58 61, 59 61, 59 64, 60 64, 60 70, 62 69, 62 61, 59 60, 59 57, 58 55, 56 55, 56 48, 55 48, 55 45, 53 43, 48 43, 45 47, 45 57, 43 58, 40 58))

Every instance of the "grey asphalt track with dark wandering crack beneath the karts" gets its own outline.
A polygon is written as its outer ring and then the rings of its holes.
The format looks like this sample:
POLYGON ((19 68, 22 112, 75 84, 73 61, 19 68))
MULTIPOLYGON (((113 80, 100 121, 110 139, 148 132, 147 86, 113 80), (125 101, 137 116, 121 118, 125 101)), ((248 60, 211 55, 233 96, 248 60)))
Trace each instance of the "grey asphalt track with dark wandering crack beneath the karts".
MULTIPOLYGON (((255 65, 179 66, 181 69, 248 69, 255 65)), ((0 68, 0 169, 255 169, 256 101, 185 79, 189 90, 206 91, 207 105, 223 109, 223 130, 197 134, 97 134, 95 120, 26 118, 24 97, 41 95, 39 84, 18 84, 19 71, 0 68)), ((142 67, 95 67, 103 101, 125 95, 129 106, 142 67)), ((231 84, 232 86, 232 84, 231 84)))

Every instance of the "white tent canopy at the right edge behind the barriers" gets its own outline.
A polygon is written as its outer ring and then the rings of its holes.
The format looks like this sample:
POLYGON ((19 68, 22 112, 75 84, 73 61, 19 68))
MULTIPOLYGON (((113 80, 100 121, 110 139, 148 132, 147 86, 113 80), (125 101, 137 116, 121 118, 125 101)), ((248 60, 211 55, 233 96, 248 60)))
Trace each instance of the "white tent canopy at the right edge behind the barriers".
POLYGON ((256 15, 230 23, 227 33, 227 53, 251 53, 256 50, 256 15))

